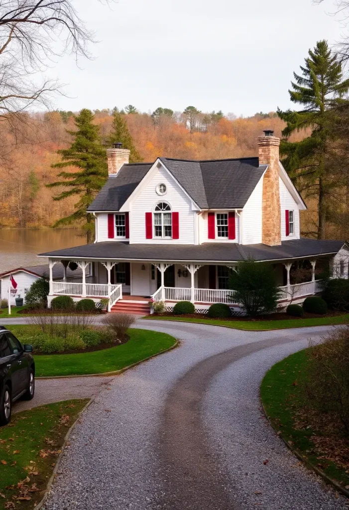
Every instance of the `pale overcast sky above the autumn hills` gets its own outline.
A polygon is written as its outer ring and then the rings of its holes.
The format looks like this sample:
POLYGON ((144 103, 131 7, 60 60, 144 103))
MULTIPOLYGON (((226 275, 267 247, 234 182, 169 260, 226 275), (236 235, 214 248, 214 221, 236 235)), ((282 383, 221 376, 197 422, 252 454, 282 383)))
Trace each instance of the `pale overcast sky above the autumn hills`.
POLYGON ((309 47, 342 29, 334 0, 75 0, 95 30, 94 60, 65 57, 49 71, 66 83, 65 110, 135 105, 252 115, 290 106, 288 88, 309 47))

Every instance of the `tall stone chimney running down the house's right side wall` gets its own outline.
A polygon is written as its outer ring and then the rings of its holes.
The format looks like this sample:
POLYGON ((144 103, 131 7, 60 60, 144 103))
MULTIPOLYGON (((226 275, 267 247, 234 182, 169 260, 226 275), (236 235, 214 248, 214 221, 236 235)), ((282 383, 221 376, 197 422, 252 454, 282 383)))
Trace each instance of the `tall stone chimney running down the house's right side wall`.
POLYGON ((280 138, 274 131, 264 131, 258 137, 260 165, 269 165, 263 180, 262 243, 268 246, 281 244, 281 207, 279 189, 280 138))

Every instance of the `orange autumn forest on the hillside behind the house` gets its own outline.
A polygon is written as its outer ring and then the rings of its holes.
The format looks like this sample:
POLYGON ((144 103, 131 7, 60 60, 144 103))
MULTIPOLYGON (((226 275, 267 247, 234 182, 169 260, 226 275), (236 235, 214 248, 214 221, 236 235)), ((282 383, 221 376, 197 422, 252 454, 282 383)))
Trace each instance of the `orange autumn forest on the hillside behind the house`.
MULTIPOLYGON (((152 114, 139 113, 131 105, 125 110, 122 114, 144 162, 153 162, 158 156, 199 160, 257 156, 257 137, 262 131, 272 129, 281 137, 286 125, 275 112, 237 118, 222 112, 204 114, 194 107, 184 112, 158 108, 152 114)), ((96 110, 94 114, 106 144, 113 111, 96 110)), ((75 129, 73 112, 66 111, 26 113, 10 124, 0 123, 0 228, 50 227, 74 211, 76 197, 55 201, 52 195, 62 190, 46 185, 57 179, 59 170, 51 168, 60 160, 57 150, 73 141, 66 130, 75 129)), ((305 135, 292 135, 291 140, 299 141, 305 135)), ((316 207, 313 211, 311 201, 307 205, 304 235, 316 220, 316 207)), ((340 237, 341 232, 335 230, 340 237)))

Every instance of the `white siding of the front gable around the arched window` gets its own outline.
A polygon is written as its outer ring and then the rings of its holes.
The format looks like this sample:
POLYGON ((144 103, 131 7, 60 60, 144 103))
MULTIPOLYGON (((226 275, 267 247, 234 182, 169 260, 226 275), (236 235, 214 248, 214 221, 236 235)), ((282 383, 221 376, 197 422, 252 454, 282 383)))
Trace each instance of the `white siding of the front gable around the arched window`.
MULTIPOLYGON (((130 170, 131 171, 131 170, 130 170)), ((130 243, 147 244, 195 244, 194 216, 192 202, 185 195, 179 185, 164 169, 160 168, 153 179, 147 184, 142 193, 131 204, 130 212, 130 243), (158 184, 165 184, 167 193, 159 196, 155 188, 158 184), (145 213, 154 212, 158 202, 168 202, 172 212, 179 213, 179 239, 146 239, 145 213)))

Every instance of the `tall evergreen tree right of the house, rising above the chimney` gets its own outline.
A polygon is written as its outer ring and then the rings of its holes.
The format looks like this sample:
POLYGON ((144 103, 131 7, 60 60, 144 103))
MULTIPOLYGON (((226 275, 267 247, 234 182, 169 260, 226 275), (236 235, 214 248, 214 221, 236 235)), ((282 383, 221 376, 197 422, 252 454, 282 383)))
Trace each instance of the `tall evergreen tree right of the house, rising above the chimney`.
POLYGON ((301 111, 278 109, 278 115, 287 122, 282 134, 283 164, 290 177, 301 185, 308 196, 315 197, 318 209, 317 238, 325 238, 327 200, 336 186, 331 176, 332 144, 338 137, 335 128, 341 107, 347 105, 344 94, 349 80, 343 80, 341 63, 332 55, 327 41, 318 41, 302 67, 302 76, 293 73, 296 83, 289 90, 293 103, 301 111), (311 135, 300 142, 289 142, 288 137, 309 128, 311 135))

